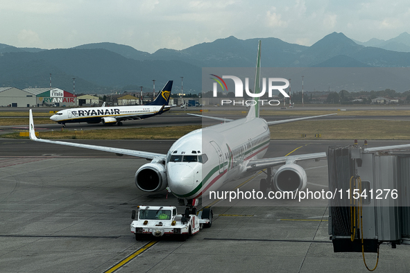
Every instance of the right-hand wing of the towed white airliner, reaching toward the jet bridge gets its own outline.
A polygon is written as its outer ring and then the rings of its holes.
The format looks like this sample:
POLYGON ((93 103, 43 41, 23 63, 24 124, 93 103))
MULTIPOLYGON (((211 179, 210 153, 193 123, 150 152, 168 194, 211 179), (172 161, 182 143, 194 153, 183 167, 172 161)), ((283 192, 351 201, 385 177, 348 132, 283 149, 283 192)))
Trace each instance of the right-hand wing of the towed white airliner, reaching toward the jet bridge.
POLYGON ((248 165, 246 166, 246 171, 255 171, 255 170, 263 170, 264 168, 271 168, 277 165, 282 164, 292 164, 296 163, 300 160, 307 160, 307 159, 325 159, 326 153, 325 152, 316 152, 313 154, 305 154, 305 155, 291 155, 289 157, 273 157, 273 158, 264 158, 264 159, 255 159, 250 160, 248 165))

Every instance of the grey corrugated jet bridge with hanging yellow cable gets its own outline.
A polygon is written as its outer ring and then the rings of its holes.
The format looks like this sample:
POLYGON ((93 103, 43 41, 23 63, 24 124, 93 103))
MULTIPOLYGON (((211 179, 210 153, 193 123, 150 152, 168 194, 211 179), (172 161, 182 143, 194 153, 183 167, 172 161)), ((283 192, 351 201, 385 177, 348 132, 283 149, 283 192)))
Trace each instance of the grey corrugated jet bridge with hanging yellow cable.
MULTIPOLYGON (((331 146, 329 234, 334 252, 410 244, 410 150, 331 146)), ((367 267, 367 265, 366 265, 367 267)))

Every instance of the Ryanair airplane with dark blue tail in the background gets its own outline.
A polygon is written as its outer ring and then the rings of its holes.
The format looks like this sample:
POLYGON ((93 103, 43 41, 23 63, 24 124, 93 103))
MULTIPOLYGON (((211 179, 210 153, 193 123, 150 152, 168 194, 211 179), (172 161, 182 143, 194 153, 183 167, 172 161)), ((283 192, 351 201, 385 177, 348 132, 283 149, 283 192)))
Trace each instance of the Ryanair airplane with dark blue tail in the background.
POLYGON ((65 123, 100 123, 122 125, 122 121, 149 118, 168 111, 171 96, 172 80, 166 82, 157 98, 148 105, 117 106, 117 107, 86 107, 71 108, 58 111, 50 117, 51 121, 65 123))

